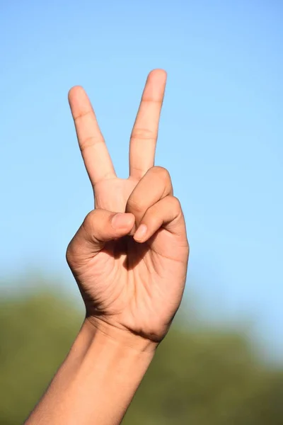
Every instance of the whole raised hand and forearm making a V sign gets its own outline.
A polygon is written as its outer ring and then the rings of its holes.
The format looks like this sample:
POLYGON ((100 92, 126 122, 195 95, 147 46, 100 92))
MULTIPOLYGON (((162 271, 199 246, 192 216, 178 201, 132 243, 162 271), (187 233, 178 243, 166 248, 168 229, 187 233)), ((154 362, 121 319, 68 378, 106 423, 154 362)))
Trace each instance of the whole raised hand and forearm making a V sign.
POLYGON ((69 91, 95 201, 67 249, 86 319, 26 424, 120 424, 178 310, 189 255, 185 220, 170 174, 154 166, 165 86, 166 72, 149 73, 129 143, 128 179, 115 174, 85 91, 69 91))

